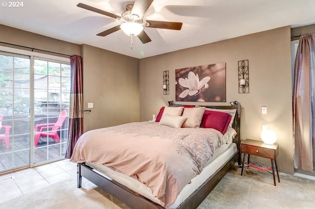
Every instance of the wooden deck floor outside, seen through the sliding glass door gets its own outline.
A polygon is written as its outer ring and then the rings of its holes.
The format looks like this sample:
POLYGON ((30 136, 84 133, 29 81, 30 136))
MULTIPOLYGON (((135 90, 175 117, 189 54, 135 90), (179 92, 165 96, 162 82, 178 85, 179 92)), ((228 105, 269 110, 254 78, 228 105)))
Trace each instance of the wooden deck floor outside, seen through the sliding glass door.
MULTIPOLYGON (((1 141, 0 141, 1 142, 1 141)), ((34 163, 45 160, 62 157, 65 155, 67 142, 58 143, 49 138, 47 140, 39 140, 37 147, 34 149, 34 163)), ((0 173, 12 168, 26 166, 30 164, 30 142, 27 137, 20 137, 10 141, 9 148, 5 148, 2 141, 0 145, 0 173)))

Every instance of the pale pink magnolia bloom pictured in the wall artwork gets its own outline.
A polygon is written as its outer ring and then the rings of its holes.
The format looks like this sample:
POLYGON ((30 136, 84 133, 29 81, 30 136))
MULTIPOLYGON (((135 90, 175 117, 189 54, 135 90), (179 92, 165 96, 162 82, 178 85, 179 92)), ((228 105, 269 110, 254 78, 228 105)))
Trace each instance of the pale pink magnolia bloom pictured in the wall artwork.
POLYGON ((193 72, 189 72, 188 74, 188 78, 179 78, 178 82, 181 86, 188 88, 185 89, 180 95, 180 98, 185 98, 188 95, 189 96, 194 96, 194 95, 198 95, 201 91, 201 89, 204 87, 204 85, 209 82, 210 77, 207 76, 205 78, 202 78, 199 81, 199 76, 198 74, 194 74, 193 72))

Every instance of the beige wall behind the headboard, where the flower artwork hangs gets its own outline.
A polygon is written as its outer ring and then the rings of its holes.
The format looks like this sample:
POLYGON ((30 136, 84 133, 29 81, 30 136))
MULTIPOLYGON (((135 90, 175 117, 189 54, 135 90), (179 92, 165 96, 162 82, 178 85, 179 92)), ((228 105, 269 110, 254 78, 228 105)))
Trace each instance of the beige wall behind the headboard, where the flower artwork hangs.
POLYGON ((220 62, 226 63, 226 101, 242 105, 241 139, 260 140, 261 124, 267 124, 278 135, 280 172, 293 174, 289 26, 141 59, 140 120, 150 120, 167 101, 175 101, 175 69, 220 62), (238 61, 243 59, 249 60, 249 94, 238 93, 238 61), (170 74, 170 95, 163 95, 165 70, 170 74), (261 106, 267 106, 266 115, 261 106))

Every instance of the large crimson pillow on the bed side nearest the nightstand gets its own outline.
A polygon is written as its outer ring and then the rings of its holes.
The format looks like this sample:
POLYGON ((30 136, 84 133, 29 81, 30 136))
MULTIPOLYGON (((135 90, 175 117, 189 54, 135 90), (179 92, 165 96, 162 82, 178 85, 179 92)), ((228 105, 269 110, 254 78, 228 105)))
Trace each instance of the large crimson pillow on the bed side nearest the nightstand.
POLYGON ((212 128, 220 131, 223 135, 231 121, 232 116, 226 112, 205 110, 200 128, 212 128))

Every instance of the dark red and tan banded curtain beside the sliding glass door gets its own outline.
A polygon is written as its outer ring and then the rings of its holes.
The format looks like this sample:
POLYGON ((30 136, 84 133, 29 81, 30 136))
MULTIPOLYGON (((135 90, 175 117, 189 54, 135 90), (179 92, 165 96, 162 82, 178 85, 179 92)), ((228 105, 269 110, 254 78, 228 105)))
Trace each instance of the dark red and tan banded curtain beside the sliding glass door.
POLYGON ((73 55, 70 57, 71 89, 69 109, 69 133, 68 145, 65 153, 70 158, 78 138, 83 133, 83 71, 82 57, 73 55))

